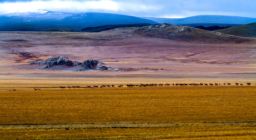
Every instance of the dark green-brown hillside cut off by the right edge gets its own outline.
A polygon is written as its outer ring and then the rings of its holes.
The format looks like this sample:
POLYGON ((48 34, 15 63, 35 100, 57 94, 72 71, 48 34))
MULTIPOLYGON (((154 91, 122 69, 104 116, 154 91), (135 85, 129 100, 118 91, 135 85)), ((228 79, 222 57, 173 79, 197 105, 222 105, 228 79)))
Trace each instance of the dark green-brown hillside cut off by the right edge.
POLYGON ((239 37, 253 37, 256 38, 256 23, 249 23, 242 26, 235 26, 231 28, 215 30, 216 32, 226 33, 239 37))

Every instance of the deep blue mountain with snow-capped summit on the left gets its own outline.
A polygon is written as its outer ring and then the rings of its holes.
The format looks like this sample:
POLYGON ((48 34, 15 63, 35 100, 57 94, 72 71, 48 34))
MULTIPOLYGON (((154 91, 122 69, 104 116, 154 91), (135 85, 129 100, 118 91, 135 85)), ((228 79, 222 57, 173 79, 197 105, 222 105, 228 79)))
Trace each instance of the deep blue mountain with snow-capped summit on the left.
POLYGON ((158 24, 149 19, 120 14, 93 12, 54 12, 36 10, 32 12, 5 12, 0 14, 0 31, 36 31, 48 28, 73 28, 116 24, 158 24))

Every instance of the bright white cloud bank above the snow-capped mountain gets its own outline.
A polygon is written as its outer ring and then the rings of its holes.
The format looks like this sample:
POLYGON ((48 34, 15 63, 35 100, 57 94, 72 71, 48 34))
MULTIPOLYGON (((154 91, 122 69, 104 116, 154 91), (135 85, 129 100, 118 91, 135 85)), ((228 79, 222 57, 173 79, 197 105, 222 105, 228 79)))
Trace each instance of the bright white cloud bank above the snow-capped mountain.
POLYGON ((111 0, 100 1, 72 1, 72 0, 50 0, 50 1, 31 1, 31 2, 15 2, 0 3, 0 12, 8 11, 33 11, 37 9, 47 10, 64 10, 72 12, 88 12, 90 10, 108 10, 117 11, 118 3, 111 0))

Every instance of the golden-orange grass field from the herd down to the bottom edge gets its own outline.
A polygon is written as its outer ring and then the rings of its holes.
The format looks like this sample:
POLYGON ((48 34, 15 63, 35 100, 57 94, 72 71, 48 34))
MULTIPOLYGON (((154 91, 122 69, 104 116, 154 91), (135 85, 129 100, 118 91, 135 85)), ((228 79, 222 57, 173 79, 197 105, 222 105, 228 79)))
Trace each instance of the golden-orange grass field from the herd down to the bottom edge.
POLYGON ((0 139, 256 139, 256 86, 234 84, 0 91, 0 139))

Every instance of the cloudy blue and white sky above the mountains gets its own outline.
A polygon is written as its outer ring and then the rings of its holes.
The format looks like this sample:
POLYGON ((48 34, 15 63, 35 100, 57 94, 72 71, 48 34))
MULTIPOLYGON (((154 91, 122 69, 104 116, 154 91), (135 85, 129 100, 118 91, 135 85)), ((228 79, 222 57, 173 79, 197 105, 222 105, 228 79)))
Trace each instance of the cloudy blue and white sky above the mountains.
POLYGON ((37 9, 137 17, 225 15, 256 18, 256 0, 0 0, 0 13, 37 9))

